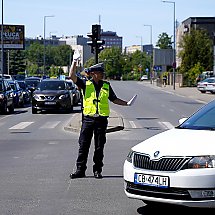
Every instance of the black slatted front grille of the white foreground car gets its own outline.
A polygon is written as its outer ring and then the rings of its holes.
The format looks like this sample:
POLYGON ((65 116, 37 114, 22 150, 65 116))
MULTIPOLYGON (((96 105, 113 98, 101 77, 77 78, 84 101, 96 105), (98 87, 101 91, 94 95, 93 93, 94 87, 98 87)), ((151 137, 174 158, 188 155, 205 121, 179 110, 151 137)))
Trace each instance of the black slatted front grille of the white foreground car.
POLYGON ((135 153, 133 165, 140 169, 178 171, 185 169, 190 159, 190 157, 162 157, 158 160, 151 160, 148 155, 135 153))

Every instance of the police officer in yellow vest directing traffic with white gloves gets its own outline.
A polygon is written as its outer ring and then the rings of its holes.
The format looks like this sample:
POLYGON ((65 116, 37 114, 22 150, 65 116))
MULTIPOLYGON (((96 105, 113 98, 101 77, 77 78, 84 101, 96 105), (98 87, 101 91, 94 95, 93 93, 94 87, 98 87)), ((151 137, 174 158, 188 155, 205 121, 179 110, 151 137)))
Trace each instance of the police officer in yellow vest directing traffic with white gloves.
POLYGON ((104 145, 110 113, 109 102, 129 106, 129 103, 118 98, 109 82, 104 81, 104 68, 96 64, 89 68, 91 79, 84 80, 76 76, 76 63, 80 53, 75 51, 69 77, 81 88, 83 94, 83 119, 79 136, 79 152, 76 160, 76 171, 70 174, 71 179, 85 177, 87 159, 91 140, 94 135, 95 150, 93 155, 93 173, 97 179, 102 178, 104 145))

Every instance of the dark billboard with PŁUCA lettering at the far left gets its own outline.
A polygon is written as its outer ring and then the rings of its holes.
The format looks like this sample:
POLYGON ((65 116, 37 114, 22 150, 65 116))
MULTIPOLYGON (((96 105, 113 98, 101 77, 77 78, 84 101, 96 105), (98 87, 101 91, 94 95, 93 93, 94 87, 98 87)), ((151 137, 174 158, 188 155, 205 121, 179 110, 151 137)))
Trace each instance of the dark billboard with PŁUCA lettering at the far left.
MULTIPOLYGON (((24 25, 3 25, 4 49, 25 49, 25 28, 24 25)), ((0 25, 0 38, 2 25, 0 25)), ((1 46, 0 40, 0 46, 1 46)))

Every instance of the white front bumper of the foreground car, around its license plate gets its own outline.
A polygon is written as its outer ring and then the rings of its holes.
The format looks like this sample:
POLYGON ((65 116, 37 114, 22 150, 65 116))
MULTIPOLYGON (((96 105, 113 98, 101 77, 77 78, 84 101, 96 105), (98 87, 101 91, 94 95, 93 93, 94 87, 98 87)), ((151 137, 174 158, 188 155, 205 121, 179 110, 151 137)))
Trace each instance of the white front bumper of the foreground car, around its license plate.
POLYGON ((161 172, 137 169, 125 161, 123 175, 124 191, 129 198, 188 207, 215 208, 215 169, 161 172), (135 184, 135 173, 168 177, 169 187, 160 188, 135 184))

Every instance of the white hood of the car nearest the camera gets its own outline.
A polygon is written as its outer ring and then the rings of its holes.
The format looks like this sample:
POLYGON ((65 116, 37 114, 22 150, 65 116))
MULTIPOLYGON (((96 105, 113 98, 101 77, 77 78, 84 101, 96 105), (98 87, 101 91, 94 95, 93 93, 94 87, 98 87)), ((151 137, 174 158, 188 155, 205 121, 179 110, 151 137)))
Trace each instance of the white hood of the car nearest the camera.
POLYGON ((215 155, 215 131, 173 128, 137 144, 133 151, 162 156, 215 155))

